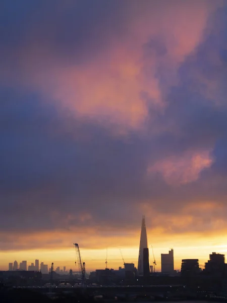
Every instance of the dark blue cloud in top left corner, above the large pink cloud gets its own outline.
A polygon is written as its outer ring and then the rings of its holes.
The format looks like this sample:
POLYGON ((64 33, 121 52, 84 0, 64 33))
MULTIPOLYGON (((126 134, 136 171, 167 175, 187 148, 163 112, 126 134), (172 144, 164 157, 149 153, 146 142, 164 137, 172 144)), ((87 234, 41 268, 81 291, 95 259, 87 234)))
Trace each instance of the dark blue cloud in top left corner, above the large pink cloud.
POLYGON ((125 33, 128 4, 127 0, 124 4, 119 0, 25 0, 23 5, 3 1, 0 45, 7 62, 2 64, 23 69, 19 57, 23 58, 25 48, 34 54, 30 64, 42 57, 42 68, 56 61, 65 66, 91 61, 109 47, 110 38, 125 33))

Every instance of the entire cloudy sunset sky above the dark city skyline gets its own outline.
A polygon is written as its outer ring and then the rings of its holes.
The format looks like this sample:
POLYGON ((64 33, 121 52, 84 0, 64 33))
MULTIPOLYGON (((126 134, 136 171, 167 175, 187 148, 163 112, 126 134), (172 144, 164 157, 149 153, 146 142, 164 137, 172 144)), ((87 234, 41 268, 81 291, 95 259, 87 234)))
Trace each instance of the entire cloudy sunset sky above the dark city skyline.
POLYGON ((227 256, 226 0, 3 0, 0 58, 0 269, 227 256))

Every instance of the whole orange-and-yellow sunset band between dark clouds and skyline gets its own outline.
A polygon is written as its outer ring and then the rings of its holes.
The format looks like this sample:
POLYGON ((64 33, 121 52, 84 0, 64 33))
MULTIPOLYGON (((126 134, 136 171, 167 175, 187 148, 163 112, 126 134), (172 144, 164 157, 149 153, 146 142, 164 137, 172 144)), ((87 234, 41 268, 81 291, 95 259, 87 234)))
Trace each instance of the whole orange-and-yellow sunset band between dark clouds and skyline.
MULTIPOLYGON (((156 215, 153 215, 156 220, 156 215)), ((159 217, 159 223, 161 219, 159 217)), ((178 224, 179 217, 176 217, 178 224)), ((184 226, 183 221, 186 217, 182 217, 179 230, 184 226)), ((163 221, 161 221, 163 222, 163 221)), ((188 222, 188 220, 187 220, 188 222)), ((171 224, 171 222, 166 222, 171 224)), ((147 222, 147 225, 149 222, 147 222)), ((171 225, 170 225, 171 226, 171 225)), ((175 254, 175 269, 180 269, 181 260, 185 258, 199 258, 200 265, 204 266, 204 262, 209 259, 209 254, 212 251, 227 254, 226 245, 226 228, 212 233, 190 232, 180 233, 171 232, 171 230, 160 228, 147 228, 148 244, 154 247, 155 259, 157 262, 157 270, 160 270, 160 254, 167 252, 169 247, 174 247, 175 254)), ((18 234, 17 234, 18 236, 18 234)), ((139 251, 139 236, 140 226, 137 226, 133 233, 122 234, 122 236, 100 237, 95 230, 74 231, 73 233, 53 231, 50 233, 36 233, 33 235, 21 235, 18 237, 20 243, 27 243, 23 248, 15 249, 17 246, 12 246, 10 250, 2 250, 0 252, 1 269, 8 269, 8 263, 14 260, 27 260, 28 263, 39 259, 50 265, 54 263, 54 267, 67 266, 67 269, 75 268, 75 249, 74 242, 80 245, 83 261, 86 262, 88 271, 97 268, 105 267, 106 246, 108 246, 108 267, 118 269, 123 266, 120 250, 121 248, 126 262, 133 262, 137 266, 138 251, 139 251), (30 246, 29 246, 30 243, 30 246), (36 247, 32 244, 36 243, 36 247)), ((15 238, 16 239, 16 238, 15 238)), ((17 244, 17 242, 14 243, 17 244)), ((13 239, 12 239, 13 240, 13 239)), ((150 256, 152 261, 152 256, 150 256)))

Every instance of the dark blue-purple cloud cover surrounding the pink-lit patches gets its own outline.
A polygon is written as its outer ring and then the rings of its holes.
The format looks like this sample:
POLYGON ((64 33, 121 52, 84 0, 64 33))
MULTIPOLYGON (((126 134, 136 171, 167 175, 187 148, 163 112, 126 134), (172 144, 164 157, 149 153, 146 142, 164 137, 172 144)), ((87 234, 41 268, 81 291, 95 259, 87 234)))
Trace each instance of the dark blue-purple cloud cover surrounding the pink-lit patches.
MULTIPOLYGON (((24 3, 22 9, 10 1, 4 2, 5 17, 0 15, 4 33, 0 43, 5 45, 2 52, 9 60, 10 49, 15 60, 6 61, 9 66, 17 62, 20 67, 18 58, 21 57, 17 58, 14 47, 26 45, 23 43, 28 39, 35 46, 40 43, 41 47, 43 43, 50 61, 51 56, 60 56, 70 64, 75 60, 82 65, 83 58, 92 60, 101 48, 109 45, 110 36, 112 39, 121 31, 120 39, 127 36, 124 18, 128 2, 123 7, 120 1, 108 4, 99 1, 99 5, 93 1, 66 1, 65 5, 54 2, 54 6, 51 1, 24 3)), ((169 74, 163 64, 157 64, 155 76, 165 91, 165 107, 160 112, 158 106, 149 105, 149 94, 141 91, 149 111, 142 131, 115 134, 111 123, 72 113, 38 89, 22 89, 15 83, 2 87, 0 231, 30 233, 81 226, 103 230, 106 226, 114 229, 116 225, 130 230, 137 228, 144 204, 158 214, 169 216, 180 216, 195 201, 198 205, 212 201, 224 206, 227 193, 225 17, 226 10, 222 8, 209 20, 204 40, 177 71, 178 83, 166 89, 169 74), (218 19, 221 22, 217 23, 218 19), (47 98, 50 102, 46 102, 47 98), (148 173, 148 168, 157 161, 175 157, 180 162, 188 151, 201 150, 211 150, 213 163, 188 183, 173 186, 161 173, 148 173), (82 216, 87 219, 81 221, 82 216)), ((149 37, 143 44, 141 58, 153 54, 161 58, 168 55, 164 38, 149 37)), ((206 216, 211 213, 212 210, 206 216)), ((223 209, 213 216, 223 219, 225 213, 223 209)), ((206 225, 206 218, 198 221, 197 213, 191 215, 198 224, 186 225, 182 231, 200 230, 202 225, 212 228, 209 222, 206 225)), ((148 226, 158 224, 154 221, 148 226)), ((177 232, 177 228, 173 224, 172 232, 177 232)))

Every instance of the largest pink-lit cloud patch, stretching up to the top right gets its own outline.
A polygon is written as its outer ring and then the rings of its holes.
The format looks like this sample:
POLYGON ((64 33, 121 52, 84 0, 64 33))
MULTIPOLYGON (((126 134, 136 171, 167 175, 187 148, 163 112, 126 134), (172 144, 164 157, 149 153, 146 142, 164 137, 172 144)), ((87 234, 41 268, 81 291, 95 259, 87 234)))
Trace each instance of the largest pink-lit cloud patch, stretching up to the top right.
MULTIPOLYGON (((221 2, 143 2, 127 10, 125 33, 108 39, 108 45, 93 60, 66 66, 56 57, 54 46, 44 40, 27 43, 18 50, 20 77, 5 71, 22 86, 38 89, 46 100, 54 99, 81 117, 139 129, 148 116, 147 105, 163 111, 163 91, 156 72, 159 66, 171 71, 166 90, 177 83, 179 64, 203 38, 209 14, 221 2), (193 20, 193 22, 192 22, 193 20), (143 57, 143 46, 160 37, 165 56, 143 57), (23 49, 23 51, 22 51, 23 49), (147 100, 141 97, 145 92, 147 100)), ((104 26, 104 25, 103 25, 104 26)), ((103 29, 104 30, 104 29, 103 29)), ((32 28, 30 35, 37 34, 32 28)))

